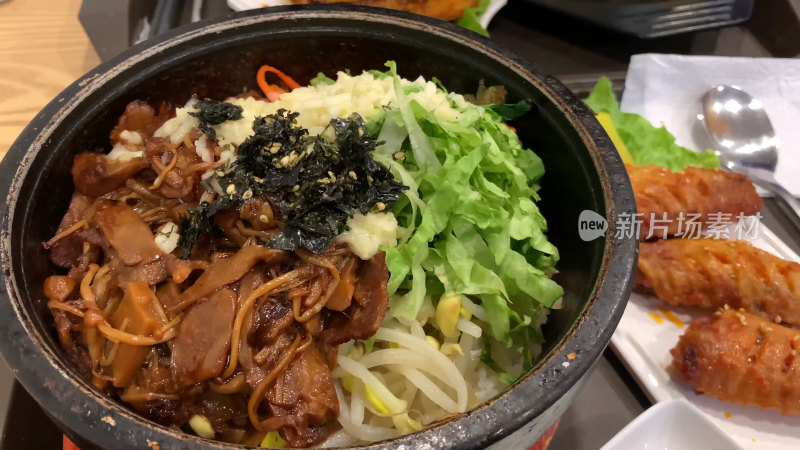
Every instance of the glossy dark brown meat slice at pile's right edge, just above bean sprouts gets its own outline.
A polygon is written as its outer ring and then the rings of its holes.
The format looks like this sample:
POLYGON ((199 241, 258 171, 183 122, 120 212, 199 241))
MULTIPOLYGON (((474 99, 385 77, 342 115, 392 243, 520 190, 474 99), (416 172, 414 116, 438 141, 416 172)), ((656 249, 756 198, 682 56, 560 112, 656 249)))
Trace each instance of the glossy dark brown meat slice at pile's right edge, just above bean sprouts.
POLYGON ((353 304, 344 312, 334 312, 320 333, 324 344, 333 346, 353 339, 368 339, 380 328, 389 306, 389 269, 386 254, 380 252, 358 269, 353 304))

